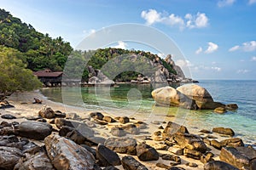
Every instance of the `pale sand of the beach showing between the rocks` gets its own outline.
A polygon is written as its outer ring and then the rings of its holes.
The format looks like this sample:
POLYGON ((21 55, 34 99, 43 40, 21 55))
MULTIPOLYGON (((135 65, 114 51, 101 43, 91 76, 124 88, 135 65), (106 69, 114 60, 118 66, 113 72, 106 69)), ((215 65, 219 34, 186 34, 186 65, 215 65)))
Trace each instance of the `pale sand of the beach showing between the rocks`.
MULTIPOLYGON (((30 116, 38 116, 38 111, 42 108, 42 106, 44 105, 48 105, 50 108, 52 108, 54 111, 61 111, 61 112, 66 112, 71 111, 73 113, 78 114, 79 116, 81 116, 81 120, 88 118, 88 116, 90 115, 90 111, 84 111, 82 108, 79 107, 73 107, 73 106, 68 106, 68 105, 63 105, 61 103, 56 103, 53 101, 50 101, 49 99, 46 99, 43 94, 40 94, 39 91, 34 91, 34 92, 26 92, 26 93, 16 93, 16 94, 12 94, 11 96, 9 96, 8 101, 11 105, 15 105, 14 108, 9 108, 9 109, 2 109, 0 110, 1 115, 5 115, 5 114, 10 114, 13 116, 16 116, 17 119, 15 120, 6 120, 3 118, 0 118, 0 121, 7 121, 7 122, 23 122, 26 121, 26 117, 30 117, 30 116), (43 104, 32 104, 33 99, 37 98, 37 99, 42 99, 43 100, 43 104)), ((106 115, 106 113, 102 113, 103 115, 106 115)), ((149 144, 153 147, 155 146, 160 146, 161 144, 164 144, 163 141, 155 141, 155 140, 145 140, 146 137, 150 137, 152 133, 154 133, 155 131, 159 131, 160 129, 158 129, 158 127, 162 126, 165 127, 166 126, 166 122, 169 121, 173 121, 174 117, 165 117, 165 120, 160 122, 160 123, 151 123, 151 122, 147 122, 148 127, 146 129, 141 129, 140 133, 138 135, 131 135, 132 138, 137 139, 138 143, 142 143, 142 142, 146 142, 146 144, 149 144)), ((143 116, 136 116, 136 117, 132 117, 131 119, 131 123, 132 122, 137 122, 137 121, 145 121, 143 120, 143 116)), ((147 120, 146 120, 147 121, 147 120)), ((114 122, 114 123, 109 123, 107 126, 102 126, 102 125, 96 125, 96 127, 93 127, 93 129, 96 132, 96 136, 99 137, 103 137, 105 139, 107 139, 108 137, 113 137, 110 133, 110 129, 111 127, 115 126, 115 125, 119 125, 118 122, 114 122)), ((56 128, 56 127, 54 127, 56 128)), ((197 131, 200 130, 200 127, 197 128, 197 131)), ((161 132, 163 131, 163 129, 160 130, 161 132)), ((190 132, 190 129, 189 129, 190 132)), ((196 133, 196 130, 193 129, 191 132, 195 133, 195 134, 201 134, 202 137, 205 136, 206 134, 203 133, 196 133)), ((218 133, 213 133, 213 135, 215 137, 217 137, 217 140, 222 140, 225 139, 225 137, 218 135, 218 133)), ((209 147, 211 149, 211 152, 214 154, 213 159, 214 160, 219 160, 219 153, 220 150, 217 150, 215 148, 213 148, 210 145, 207 145, 207 147, 209 147)), ((167 150, 157 150, 160 154, 166 154, 169 153, 169 151, 167 150)), ((120 157, 125 156, 125 154, 119 154, 120 157)), ((180 165, 177 165, 177 167, 183 167, 185 169, 203 169, 204 164, 199 161, 199 160, 195 160, 195 159, 191 159, 188 158, 186 156, 180 156, 182 159, 182 162, 180 165), (185 164, 187 162, 195 162, 198 167, 188 167, 185 164)), ((134 156, 134 158, 137 158, 137 156, 134 156)), ((166 160, 162 160, 161 158, 158 161, 141 161, 143 163, 143 165, 145 165, 146 167, 148 167, 148 169, 164 169, 164 168, 160 168, 160 167, 156 167, 156 163, 157 162, 161 162, 161 163, 165 163, 166 165, 169 165, 170 162, 166 161, 166 160)), ((119 169, 123 169, 122 166, 117 166, 119 169)))

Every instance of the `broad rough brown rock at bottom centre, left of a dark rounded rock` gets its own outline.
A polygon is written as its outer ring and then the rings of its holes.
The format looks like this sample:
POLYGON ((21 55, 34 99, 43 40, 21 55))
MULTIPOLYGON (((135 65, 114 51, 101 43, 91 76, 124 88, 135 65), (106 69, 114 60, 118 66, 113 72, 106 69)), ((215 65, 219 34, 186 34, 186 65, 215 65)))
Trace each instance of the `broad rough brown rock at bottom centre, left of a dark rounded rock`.
POLYGON ((104 145, 110 150, 116 151, 118 153, 136 155, 136 139, 131 138, 108 138, 104 145))

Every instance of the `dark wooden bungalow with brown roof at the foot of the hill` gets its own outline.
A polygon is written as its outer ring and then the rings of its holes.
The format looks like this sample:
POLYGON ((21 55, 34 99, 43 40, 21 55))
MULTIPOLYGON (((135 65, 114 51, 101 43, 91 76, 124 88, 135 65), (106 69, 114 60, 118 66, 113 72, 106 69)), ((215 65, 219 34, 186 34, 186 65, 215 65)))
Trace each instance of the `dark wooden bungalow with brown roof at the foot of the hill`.
POLYGON ((60 86, 63 72, 62 71, 50 71, 46 69, 44 71, 33 72, 38 79, 46 86, 60 86))

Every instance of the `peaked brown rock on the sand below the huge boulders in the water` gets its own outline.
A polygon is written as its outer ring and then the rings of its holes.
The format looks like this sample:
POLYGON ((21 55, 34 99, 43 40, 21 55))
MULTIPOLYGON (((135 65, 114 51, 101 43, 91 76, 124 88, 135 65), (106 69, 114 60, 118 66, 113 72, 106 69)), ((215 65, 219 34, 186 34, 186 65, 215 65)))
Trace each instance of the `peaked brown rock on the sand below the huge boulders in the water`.
POLYGON ((175 122, 168 122, 163 133, 166 133, 167 136, 169 136, 174 133, 189 133, 189 131, 187 127, 184 127, 183 125, 179 125, 175 122))

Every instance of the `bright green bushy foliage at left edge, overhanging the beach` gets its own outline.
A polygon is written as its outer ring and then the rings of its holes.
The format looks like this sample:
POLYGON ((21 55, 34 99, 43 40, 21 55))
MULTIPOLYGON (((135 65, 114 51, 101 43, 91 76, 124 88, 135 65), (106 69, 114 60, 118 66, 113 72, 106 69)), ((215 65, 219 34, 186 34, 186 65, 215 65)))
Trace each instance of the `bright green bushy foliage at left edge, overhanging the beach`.
POLYGON ((25 68, 26 64, 20 59, 22 55, 14 48, 0 46, 0 94, 41 87, 38 78, 25 68))

